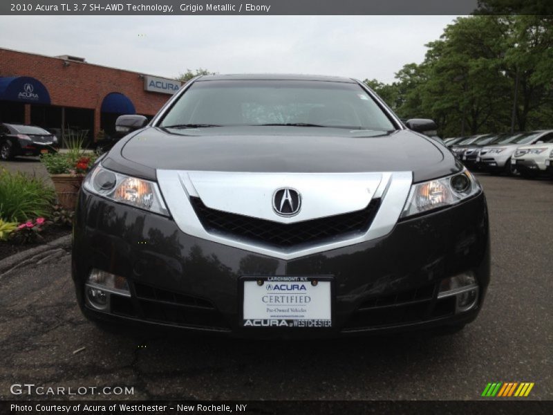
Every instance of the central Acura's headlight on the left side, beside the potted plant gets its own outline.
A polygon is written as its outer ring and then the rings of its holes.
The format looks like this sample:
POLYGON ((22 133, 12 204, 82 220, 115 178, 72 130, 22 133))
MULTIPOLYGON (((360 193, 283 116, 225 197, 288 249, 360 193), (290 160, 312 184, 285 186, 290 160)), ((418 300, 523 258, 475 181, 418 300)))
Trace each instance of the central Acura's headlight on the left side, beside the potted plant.
POLYGON ((158 183, 126 176, 96 165, 83 186, 88 192, 106 199, 169 216, 158 183))

